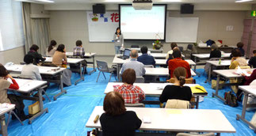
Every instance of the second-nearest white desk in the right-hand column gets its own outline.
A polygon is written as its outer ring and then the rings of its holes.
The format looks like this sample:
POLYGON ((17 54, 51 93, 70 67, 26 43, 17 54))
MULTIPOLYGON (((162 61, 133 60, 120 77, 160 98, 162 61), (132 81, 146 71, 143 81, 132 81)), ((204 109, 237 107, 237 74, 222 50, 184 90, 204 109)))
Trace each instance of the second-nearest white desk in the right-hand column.
MULTIPOLYGON (((254 69, 243 69, 245 71, 250 71, 252 72, 254 69)), ((212 96, 217 96, 218 98, 220 98, 220 100, 223 100, 224 102, 226 100, 224 100, 223 97, 219 96, 218 92, 219 92, 219 86, 222 85, 238 85, 238 83, 224 83, 224 84, 220 84, 220 76, 223 76, 227 79, 230 78, 236 78, 236 77, 243 77, 241 74, 235 74, 236 70, 213 70, 213 72, 215 72, 217 74, 217 80, 216 80, 216 93, 212 93, 212 96)))

